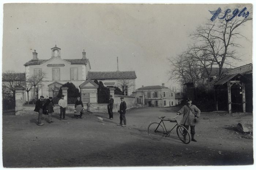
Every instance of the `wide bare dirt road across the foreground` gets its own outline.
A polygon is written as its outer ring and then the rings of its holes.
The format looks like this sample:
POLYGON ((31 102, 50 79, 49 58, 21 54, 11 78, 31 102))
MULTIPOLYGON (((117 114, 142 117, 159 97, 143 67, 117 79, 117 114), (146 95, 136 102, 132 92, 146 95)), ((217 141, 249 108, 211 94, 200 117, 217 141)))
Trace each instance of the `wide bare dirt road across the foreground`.
MULTIPOLYGON (((119 114, 84 115, 83 119, 57 120, 37 126, 35 115, 3 116, 4 167, 75 166, 176 166, 251 165, 253 140, 234 126, 252 121, 252 113, 202 113, 196 125, 196 140, 183 144, 173 131, 154 141, 147 135, 158 116, 174 117, 179 107, 133 109, 127 126, 120 127, 119 114), (97 117, 102 117, 103 121, 97 117), (246 138, 247 137, 247 138, 246 138)), ((178 117, 180 120, 181 117, 178 117)), ((173 124, 167 124, 171 127, 173 124)))

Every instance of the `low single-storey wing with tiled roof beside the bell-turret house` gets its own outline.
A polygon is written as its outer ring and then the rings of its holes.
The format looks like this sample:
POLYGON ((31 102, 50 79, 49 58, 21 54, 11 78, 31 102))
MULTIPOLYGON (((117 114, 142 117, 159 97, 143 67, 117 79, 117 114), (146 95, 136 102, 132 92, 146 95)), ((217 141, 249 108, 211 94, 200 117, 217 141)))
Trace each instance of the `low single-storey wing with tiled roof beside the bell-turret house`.
POLYGON ((123 95, 132 95, 135 91, 135 71, 88 72, 87 79, 101 81, 106 87, 118 87, 123 95))

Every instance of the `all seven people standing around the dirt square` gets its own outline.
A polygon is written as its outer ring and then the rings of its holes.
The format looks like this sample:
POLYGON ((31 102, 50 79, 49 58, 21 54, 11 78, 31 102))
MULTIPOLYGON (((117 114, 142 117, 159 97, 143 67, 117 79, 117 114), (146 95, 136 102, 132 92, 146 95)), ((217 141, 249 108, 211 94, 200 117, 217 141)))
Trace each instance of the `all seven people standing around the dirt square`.
MULTIPOLYGON (((118 126, 126 126, 126 118, 125 118, 125 113, 126 113, 126 102, 124 101, 124 98, 121 97, 121 103, 118 112, 120 113, 120 123, 117 124, 118 126)), ((186 129, 189 129, 190 126, 190 133, 191 133, 191 140, 196 142, 195 139, 195 123, 197 121, 197 118, 200 116, 200 110, 195 106, 192 105, 192 100, 187 99, 187 105, 183 106, 177 113, 177 115, 183 114, 182 120, 180 122, 181 125, 185 126, 186 129)), ((113 119, 113 104, 114 104, 114 99, 113 96, 109 96, 109 101, 108 101, 108 113, 109 113, 109 119, 113 119)), ((66 107, 68 105, 68 102, 66 99, 64 99, 64 95, 61 95, 61 99, 58 102, 58 105, 60 106, 60 117, 59 120, 67 120, 65 117, 66 113, 66 107)), ((38 101, 35 103, 35 112, 38 112, 38 125, 42 126, 44 123, 41 122, 42 114, 48 114, 48 122, 52 123, 52 113, 54 112, 54 103, 52 101, 52 97, 49 97, 49 99, 46 100, 44 103, 44 96, 40 96, 38 101)), ((80 97, 77 98, 76 103, 75 103, 75 114, 74 116, 78 118, 82 118, 82 110, 84 109, 83 107, 83 102, 80 100, 80 97)), ((187 132, 187 131, 186 131, 187 132)), ((187 135, 184 131, 184 139, 187 135)))

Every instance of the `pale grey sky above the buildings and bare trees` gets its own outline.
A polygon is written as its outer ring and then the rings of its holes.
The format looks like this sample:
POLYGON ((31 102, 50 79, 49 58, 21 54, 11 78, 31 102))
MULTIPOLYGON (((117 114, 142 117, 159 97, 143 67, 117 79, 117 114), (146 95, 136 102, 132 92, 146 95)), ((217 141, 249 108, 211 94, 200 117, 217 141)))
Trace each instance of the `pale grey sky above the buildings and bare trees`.
MULTIPOLYGON (((49 59, 57 45, 63 59, 82 58, 84 49, 91 71, 116 71, 118 57, 120 71, 136 72, 136 88, 177 86, 169 81, 167 58, 186 50, 189 35, 218 7, 233 5, 4 4, 2 71, 25 72, 34 50, 39 59, 49 59)), ((252 63, 252 21, 240 31, 247 40, 239 40, 242 60, 235 67, 252 63)))

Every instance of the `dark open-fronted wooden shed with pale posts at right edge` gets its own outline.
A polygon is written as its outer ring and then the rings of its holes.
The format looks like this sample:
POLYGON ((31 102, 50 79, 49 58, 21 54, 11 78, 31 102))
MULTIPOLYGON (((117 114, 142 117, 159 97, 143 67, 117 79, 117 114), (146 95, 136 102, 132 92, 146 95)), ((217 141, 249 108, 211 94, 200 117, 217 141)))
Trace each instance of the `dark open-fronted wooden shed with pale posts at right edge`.
POLYGON ((216 110, 252 112, 252 80, 240 73, 226 74, 211 82, 216 110))

